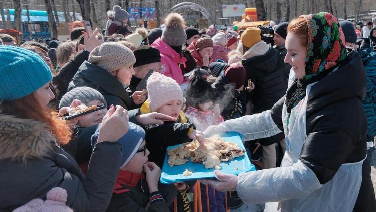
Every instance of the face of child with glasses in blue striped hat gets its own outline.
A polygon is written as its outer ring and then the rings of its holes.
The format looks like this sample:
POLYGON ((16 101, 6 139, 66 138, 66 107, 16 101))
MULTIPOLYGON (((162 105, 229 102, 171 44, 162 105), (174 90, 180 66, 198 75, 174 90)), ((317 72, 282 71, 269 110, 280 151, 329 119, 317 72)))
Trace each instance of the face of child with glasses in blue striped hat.
MULTIPOLYGON (((142 144, 140 145, 140 147, 138 148, 138 150, 142 150, 146 148, 146 142, 145 140, 142 142, 142 144)), ((145 149, 145 152, 137 152, 133 157, 132 159, 130 159, 130 161, 127 163, 127 165, 125 165, 123 168, 121 168, 121 170, 124 170, 124 171, 131 171, 131 172, 134 172, 134 173, 142 173, 143 171, 143 164, 145 164, 148 159, 149 159, 149 150, 148 149, 145 149)))

